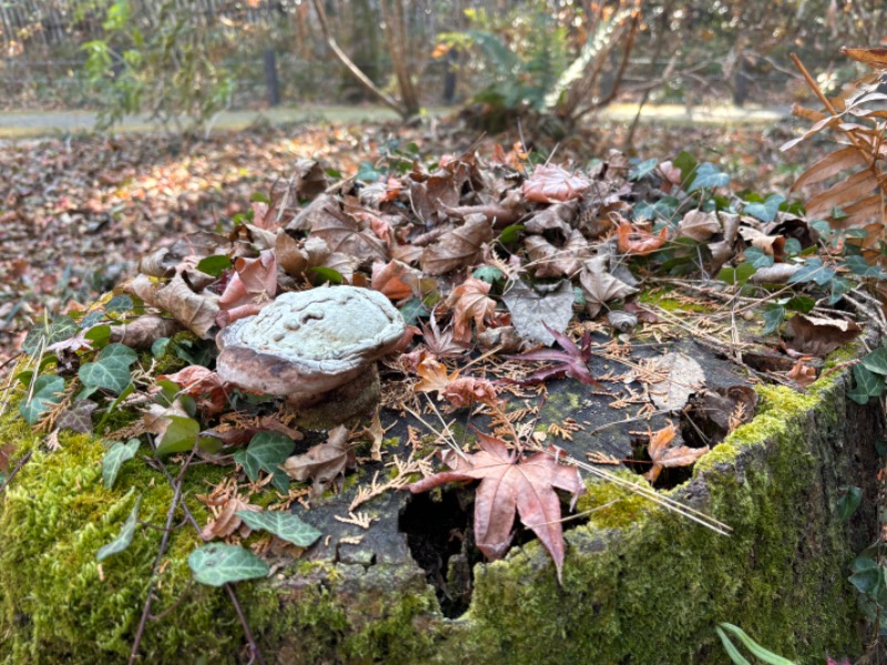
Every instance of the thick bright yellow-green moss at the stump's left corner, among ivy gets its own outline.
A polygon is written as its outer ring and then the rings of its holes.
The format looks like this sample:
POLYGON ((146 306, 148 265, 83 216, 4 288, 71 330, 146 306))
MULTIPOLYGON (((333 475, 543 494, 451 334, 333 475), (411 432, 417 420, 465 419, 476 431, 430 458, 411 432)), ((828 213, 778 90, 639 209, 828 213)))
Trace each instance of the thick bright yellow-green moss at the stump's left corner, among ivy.
MULTIPOLYGON (((132 545, 101 565, 95 553, 120 531, 132 500, 142 494, 140 520, 162 525, 172 489, 165 478, 137 458, 121 469, 106 490, 101 478, 102 442, 86 434, 62 433, 58 452, 40 450, 41 437, 11 408, 0 421, 0 443, 16 441, 18 454, 33 450, 0 499, 0 662, 118 663, 129 655, 141 615, 161 531, 140 528, 132 545)), ((177 469, 170 468, 172 473, 177 469)), ((221 480, 223 469, 196 466, 188 471, 186 501, 200 523, 204 507, 196 491, 221 480)), ((183 519, 181 510, 175 521, 183 519)), ((157 577, 159 614, 187 595, 163 622, 151 623, 142 642, 150 662, 175 662, 183 649, 211 659, 233 659, 239 623, 223 590, 193 585, 187 555, 201 544, 188 526, 177 529, 157 577)), ((241 585, 242 602, 254 627, 272 620, 267 586, 241 585)))

